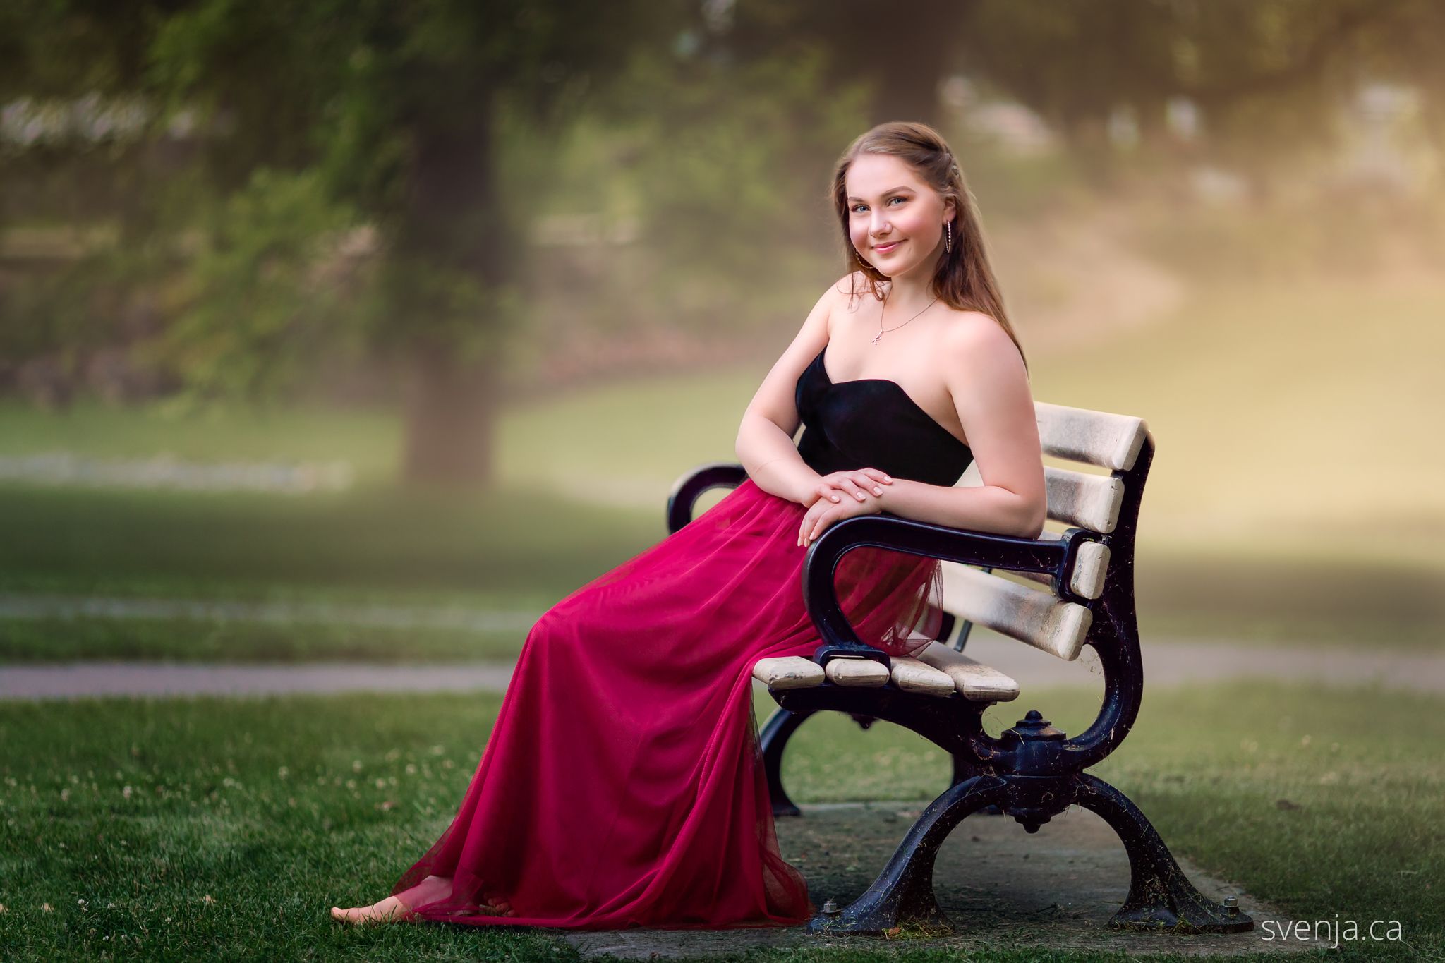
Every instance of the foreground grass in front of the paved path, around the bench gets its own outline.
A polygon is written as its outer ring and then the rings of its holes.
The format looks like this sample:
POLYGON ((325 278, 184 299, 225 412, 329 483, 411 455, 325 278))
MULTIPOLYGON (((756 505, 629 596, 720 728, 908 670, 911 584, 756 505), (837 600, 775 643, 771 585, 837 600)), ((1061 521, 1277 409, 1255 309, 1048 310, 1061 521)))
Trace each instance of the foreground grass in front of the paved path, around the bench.
MULTIPOLYGON (((432 694, 0 706, 7 959, 572 957, 546 934, 353 931, 327 918, 332 904, 384 894, 435 840, 499 705, 432 694)), ((996 706, 991 728, 1026 707, 1068 731, 1094 709, 1079 693, 1043 693, 996 706)), ((1296 918, 1402 923, 1407 946, 1347 946, 1345 959, 1439 959, 1426 951, 1445 944, 1442 707, 1379 690, 1152 692, 1098 774, 1176 852, 1296 918)), ((825 716, 799 732, 785 778, 801 801, 915 800, 945 772, 942 754, 910 733, 825 716)))

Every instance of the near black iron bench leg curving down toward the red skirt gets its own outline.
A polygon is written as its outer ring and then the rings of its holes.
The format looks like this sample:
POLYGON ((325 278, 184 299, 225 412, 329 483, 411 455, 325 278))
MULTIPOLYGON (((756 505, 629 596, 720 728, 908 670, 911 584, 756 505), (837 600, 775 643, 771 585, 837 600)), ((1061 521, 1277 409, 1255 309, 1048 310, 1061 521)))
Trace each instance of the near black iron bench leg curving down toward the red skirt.
POLYGON ((996 775, 975 775, 949 787, 928 804, 867 892, 844 910, 818 914, 808 921, 808 931, 879 936, 899 927, 916 927, 952 933, 952 921, 933 897, 933 859, 965 816, 1003 801, 1006 785, 996 775))

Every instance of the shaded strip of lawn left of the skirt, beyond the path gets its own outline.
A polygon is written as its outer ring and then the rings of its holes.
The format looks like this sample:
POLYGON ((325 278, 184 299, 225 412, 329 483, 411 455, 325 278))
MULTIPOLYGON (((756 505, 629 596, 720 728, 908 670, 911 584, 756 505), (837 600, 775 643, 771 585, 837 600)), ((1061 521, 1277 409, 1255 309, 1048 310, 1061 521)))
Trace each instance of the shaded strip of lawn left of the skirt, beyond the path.
POLYGON ((657 541, 662 507, 545 492, 266 495, 10 488, 0 589, 276 598, 559 596, 657 541))

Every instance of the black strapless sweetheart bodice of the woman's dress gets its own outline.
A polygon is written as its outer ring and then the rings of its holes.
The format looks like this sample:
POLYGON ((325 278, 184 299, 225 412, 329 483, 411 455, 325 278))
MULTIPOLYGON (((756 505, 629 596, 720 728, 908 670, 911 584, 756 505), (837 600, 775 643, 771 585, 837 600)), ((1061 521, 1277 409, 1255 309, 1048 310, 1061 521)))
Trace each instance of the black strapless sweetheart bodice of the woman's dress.
POLYGON ((886 378, 834 384, 818 352, 798 378, 795 400, 803 422, 798 453, 819 475, 879 468, 894 478, 952 485, 974 453, 886 378))

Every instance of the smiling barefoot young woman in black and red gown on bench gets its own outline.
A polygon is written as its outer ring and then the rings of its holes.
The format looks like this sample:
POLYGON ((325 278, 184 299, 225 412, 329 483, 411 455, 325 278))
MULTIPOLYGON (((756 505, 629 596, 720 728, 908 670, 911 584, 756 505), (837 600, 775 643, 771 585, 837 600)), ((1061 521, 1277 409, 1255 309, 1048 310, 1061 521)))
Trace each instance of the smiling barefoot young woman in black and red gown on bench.
MULTIPOLYGON (((749 479, 532 628, 477 774, 439 840, 350 923, 574 928, 783 925, 814 912, 777 850, 751 668, 819 644, 805 547, 889 511, 1036 537, 1043 466, 1023 355, 962 172, 893 123, 832 182, 853 273, 824 292, 743 414, 749 479), (793 435, 805 426, 798 446, 793 435), (955 488, 970 462, 981 487, 955 488)), ((938 563, 857 550, 860 638, 903 655, 938 563)))

